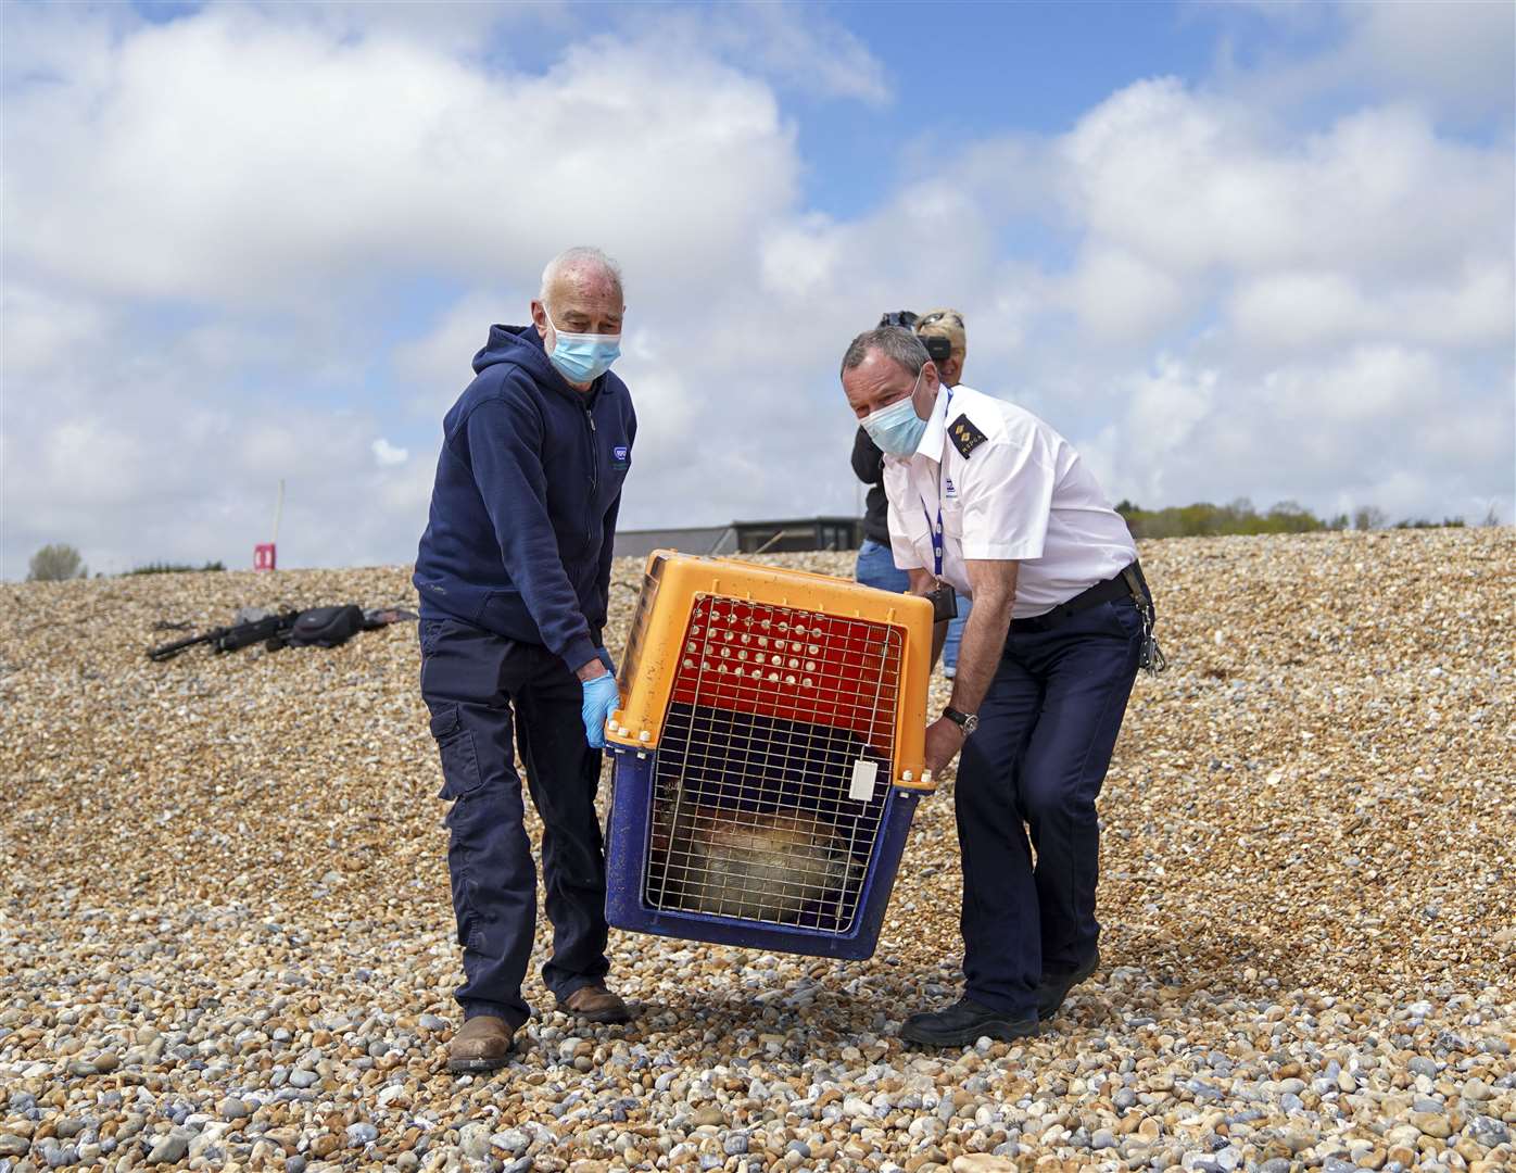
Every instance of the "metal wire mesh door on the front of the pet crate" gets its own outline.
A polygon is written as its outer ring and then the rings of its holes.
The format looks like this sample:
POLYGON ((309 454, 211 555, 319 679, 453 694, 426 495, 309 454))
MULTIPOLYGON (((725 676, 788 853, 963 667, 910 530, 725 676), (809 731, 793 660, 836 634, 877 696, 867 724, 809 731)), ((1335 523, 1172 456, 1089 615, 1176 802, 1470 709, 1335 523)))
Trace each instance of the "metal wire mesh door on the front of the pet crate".
POLYGON ((653 779, 652 908, 847 932, 894 765, 902 635, 697 596, 653 779))

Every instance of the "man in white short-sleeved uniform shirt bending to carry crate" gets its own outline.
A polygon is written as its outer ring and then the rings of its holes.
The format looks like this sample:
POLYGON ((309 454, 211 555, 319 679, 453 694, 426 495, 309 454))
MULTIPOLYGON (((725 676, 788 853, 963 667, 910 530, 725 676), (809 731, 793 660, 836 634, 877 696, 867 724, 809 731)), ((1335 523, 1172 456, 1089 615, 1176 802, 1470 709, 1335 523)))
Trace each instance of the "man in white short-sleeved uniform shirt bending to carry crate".
POLYGON ((944 386, 910 332, 858 335, 841 380, 885 453, 890 541, 911 591, 973 597, 952 700, 926 729, 934 773, 963 750, 964 996, 901 1034, 929 1046, 1031 1035, 1099 964, 1095 799, 1152 621, 1137 549, 1063 436, 944 386))

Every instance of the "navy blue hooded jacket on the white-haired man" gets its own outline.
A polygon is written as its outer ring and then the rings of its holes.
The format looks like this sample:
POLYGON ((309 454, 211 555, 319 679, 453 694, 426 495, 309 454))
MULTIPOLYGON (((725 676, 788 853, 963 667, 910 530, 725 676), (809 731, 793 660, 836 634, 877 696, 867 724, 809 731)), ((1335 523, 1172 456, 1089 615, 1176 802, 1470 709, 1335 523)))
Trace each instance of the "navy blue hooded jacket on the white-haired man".
POLYGON ((443 418, 415 558, 423 618, 596 658, 637 415, 606 373, 572 388, 532 326, 491 326, 475 380, 443 418))

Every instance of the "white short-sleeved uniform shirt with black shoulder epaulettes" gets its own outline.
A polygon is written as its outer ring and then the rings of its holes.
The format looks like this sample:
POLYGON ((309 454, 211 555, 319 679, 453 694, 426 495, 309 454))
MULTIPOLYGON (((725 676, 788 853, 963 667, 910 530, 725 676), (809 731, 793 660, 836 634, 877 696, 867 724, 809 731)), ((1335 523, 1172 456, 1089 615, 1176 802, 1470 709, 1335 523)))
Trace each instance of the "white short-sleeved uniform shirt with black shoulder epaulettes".
POLYGON ((934 568, 938 509, 940 577, 963 594, 972 594, 966 559, 1020 562, 1014 618, 1052 611, 1137 558, 1126 521, 1067 439, 1029 411, 961 383, 938 391, 911 456, 884 458, 884 493, 902 570, 934 568), (960 420, 967 439, 955 443, 960 420))

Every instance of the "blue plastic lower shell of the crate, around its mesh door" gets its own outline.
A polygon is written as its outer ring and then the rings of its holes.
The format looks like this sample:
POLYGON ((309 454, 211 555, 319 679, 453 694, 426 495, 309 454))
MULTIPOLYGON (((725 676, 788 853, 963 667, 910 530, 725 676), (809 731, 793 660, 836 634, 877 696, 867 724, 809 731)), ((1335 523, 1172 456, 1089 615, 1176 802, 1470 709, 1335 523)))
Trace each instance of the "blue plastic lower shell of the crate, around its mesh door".
POLYGON ((919 794, 894 787, 885 794, 879 837, 869 858, 863 896, 849 931, 769 924, 705 912, 658 909, 644 902, 652 841, 653 761, 655 752, 611 746, 615 793, 605 850, 605 917, 612 927, 819 958, 863 961, 873 956, 919 794))

